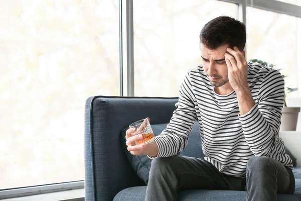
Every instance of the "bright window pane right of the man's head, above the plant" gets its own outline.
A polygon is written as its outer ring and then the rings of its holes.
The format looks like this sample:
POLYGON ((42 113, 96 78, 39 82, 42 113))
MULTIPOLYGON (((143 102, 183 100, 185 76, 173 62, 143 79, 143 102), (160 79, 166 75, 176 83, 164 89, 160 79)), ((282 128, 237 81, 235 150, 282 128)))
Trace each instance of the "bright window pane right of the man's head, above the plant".
MULTIPOLYGON (((284 14, 247 7, 247 58, 275 64, 286 75, 286 87, 300 87, 301 21, 284 14)), ((288 97, 301 95, 301 91, 288 97)))

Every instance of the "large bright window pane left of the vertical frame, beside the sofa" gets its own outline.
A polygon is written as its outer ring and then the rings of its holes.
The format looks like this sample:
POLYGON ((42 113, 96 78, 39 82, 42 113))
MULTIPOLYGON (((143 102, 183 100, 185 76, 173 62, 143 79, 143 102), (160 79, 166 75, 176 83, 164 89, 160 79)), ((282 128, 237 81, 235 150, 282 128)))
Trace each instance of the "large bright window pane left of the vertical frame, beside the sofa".
POLYGON ((85 99, 119 95, 118 1, 0 8, 0 189, 83 180, 85 99))

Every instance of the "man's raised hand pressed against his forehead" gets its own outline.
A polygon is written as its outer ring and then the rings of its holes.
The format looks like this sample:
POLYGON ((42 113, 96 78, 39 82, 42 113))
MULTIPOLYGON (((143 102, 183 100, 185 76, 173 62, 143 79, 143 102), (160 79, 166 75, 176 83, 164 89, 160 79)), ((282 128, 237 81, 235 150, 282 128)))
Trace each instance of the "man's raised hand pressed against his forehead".
POLYGON ((232 88, 239 92, 248 88, 247 61, 237 47, 227 48, 230 53, 225 53, 225 61, 228 66, 228 77, 232 88), (234 50, 233 50, 234 49, 234 50))

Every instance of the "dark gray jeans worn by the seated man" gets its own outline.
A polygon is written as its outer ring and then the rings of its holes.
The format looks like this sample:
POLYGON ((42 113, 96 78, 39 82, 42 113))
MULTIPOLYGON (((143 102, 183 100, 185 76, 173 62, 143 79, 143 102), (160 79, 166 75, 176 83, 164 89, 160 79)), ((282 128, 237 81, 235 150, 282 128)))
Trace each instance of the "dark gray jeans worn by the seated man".
POLYGON ((275 201, 276 193, 293 193, 294 176, 279 161, 265 156, 249 159, 246 178, 223 174, 200 158, 172 156, 152 161, 145 200, 177 200, 178 190, 187 189, 246 190, 248 201, 275 201))

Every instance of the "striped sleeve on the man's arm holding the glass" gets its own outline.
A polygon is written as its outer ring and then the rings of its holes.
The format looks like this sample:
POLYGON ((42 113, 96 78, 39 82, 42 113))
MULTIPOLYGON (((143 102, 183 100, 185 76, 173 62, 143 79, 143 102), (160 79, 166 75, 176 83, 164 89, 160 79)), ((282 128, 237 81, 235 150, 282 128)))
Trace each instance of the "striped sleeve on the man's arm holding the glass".
POLYGON ((170 123, 155 139, 159 148, 157 157, 178 155, 187 145, 188 135, 196 120, 195 95, 189 74, 190 72, 186 74, 181 84, 179 100, 176 104, 177 109, 174 111, 170 123))

